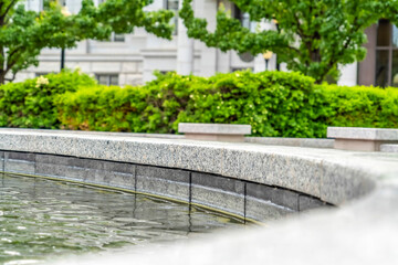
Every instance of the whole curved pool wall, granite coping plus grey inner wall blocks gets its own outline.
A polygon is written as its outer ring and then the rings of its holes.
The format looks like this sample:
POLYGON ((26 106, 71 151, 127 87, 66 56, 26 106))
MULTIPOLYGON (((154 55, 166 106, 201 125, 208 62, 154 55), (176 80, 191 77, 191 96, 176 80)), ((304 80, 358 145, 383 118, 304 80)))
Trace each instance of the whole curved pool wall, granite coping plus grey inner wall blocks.
POLYGON ((395 265, 398 261, 394 153, 0 129, 0 170, 167 197, 268 224, 201 234, 203 239, 160 248, 133 246, 138 253, 122 247, 101 252, 104 255, 73 255, 46 263, 51 265, 395 265), (304 213, 320 203, 336 208, 304 213), (297 214, 273 223, 266 220, 271 208, 276 218, 297 214))

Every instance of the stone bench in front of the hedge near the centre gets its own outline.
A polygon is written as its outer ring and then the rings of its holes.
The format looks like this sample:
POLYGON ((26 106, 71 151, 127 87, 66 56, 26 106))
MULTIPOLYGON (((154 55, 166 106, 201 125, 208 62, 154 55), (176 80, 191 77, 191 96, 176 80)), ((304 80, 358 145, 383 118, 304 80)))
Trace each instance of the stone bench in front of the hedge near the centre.
POLYGON ((208 141, 243 142, 245 135, 251 135, 250 125, 230 124, 186 124, 178 125, 178 132, 187 139, 208 141))

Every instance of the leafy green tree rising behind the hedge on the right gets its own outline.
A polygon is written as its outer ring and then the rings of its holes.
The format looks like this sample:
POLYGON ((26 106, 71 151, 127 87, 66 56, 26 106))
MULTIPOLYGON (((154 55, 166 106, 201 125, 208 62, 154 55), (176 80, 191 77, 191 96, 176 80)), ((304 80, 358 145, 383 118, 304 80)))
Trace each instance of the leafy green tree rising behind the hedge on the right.
POLYGON ((397 0, 231 0, 252 21, 274 21, 277 28, 251 32, 221 6, 216 31, 209 32, 207 21, 195 18, 191 2, 184 0, 179 13, 190 38, 221 51, 253 55, 272 51, 289 70, 317 83, 327 76, 338 77, 338 64, 363 60, 365 29, 380 18, 397 21, 398 14, 397 0))

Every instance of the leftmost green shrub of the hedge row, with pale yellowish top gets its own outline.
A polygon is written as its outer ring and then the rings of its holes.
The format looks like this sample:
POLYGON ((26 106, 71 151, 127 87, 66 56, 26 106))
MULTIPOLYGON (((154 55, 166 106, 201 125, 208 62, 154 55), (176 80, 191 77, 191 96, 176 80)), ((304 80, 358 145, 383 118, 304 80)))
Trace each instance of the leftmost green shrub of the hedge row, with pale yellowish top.
POLYGON ((0 127, 15 128, 60 128, 54 98, 78 86, 95 85, 95 81, 77 72, 64 71, 45 76, 49 84, 38 80, 9 83, 0 86, 0 127))

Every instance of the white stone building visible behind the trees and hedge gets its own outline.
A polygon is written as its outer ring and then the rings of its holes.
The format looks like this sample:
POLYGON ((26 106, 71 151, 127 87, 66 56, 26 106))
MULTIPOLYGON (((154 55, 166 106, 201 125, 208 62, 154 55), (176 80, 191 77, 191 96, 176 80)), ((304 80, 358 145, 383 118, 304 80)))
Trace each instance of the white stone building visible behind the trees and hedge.
MULTIPOLYGON (((40 10, 43 0, 25 0, 27 7, 31 10, 40 10)), ((63 0, 70 12, 77 12, 81 0, 63 0)), ((101 3, 104 0, 94 0, 101 3)), ((180 1, 181 3, 181 1, 180 1)), ((154 0, 147 10, 170 9, 176 10, 180 4, 178 0, 154 0)), ((209 29, 216 26, 216 13, 220 0, 196 0, 195 12, 197 17, 206 18, 209 29)), ((227 2, 226 8, 232 14, 242 20, 245 26, 253 26, 248 21, 247 15, 234 9, 232 3, 227 2)), ((176 21, 177 22, 177 21, 176 21)), ((342 85, 371 85, 371 84, 394 84, 395 70, 394 63, 397 30, 395 26, 385 25, 373 26, 368 30, 370 34, 368 44, 368 57, 363 63, 355 63, 342 68, 342 76, 338 81, 342 85), (387 28, 386 28, 387 26, 387 28), (389 28, 388 28, 389 26, 389 28), (378 28, 390 32, 388 36, 388 47, 379 46, 377 41, 378 28), (375 42, 375 44, 371 44, 375 42), (381 63, 380 63, 380 54, 381 63), (376 62, 377 61, 377 62, 376 62), (380 70, 380 65, 384 70, 380 70), (386 68, 387 67, 387 68, 386 68), (380 76, 383 75, 383 81, 380 76), (384 83, 383 83, 384 82, 384 83)), ((272 28, 272 24, 262 26, 272 28)), ((386 34, 386 33, 384 33, 386 34)), ((380 38, 379 38, 380 39, 380 38)), ((385 40, 387 41, 387 40, 385 40)), ((40 57, 38 67, 30 67, 17 75, 17 81, 21 81, 38 75, 59 72, 61 51, 44 50, 40 57)), ((235 52, 223 53, 217 49, 207 47, 199 41, 189 40, 186 29, 181 21, 178 22, 175 35, 171 41, 156 38, 146 33, 143 29, 136 29, 133 34, 113 34, 111 41, 100 42, 86 40, 80 42, 75 49, 66 50, 65 66, 69 68, 80 67, 83 72, 96 76, 102 84, 115 85, 136 85, 143 84, 154 78, 153 72, 178 71, 181 74, 192 73, 200 76, 211 76, 218 72, 228 73, 237 70, 251 68, 254 72, 265 70, 265 62, 262 55, 251 57, 238 55, 235 52)), ((269 63, 269 70, 276 68, 276 60, 273 55, 269 63)), ((283 70, 283 65, 281 66, 283 70)), ((397 57, 398 72, 398 57, 397 57)), ((398 82, 398 78, 396 78, 398 82)))

